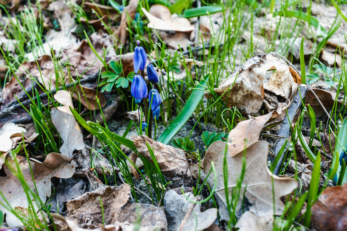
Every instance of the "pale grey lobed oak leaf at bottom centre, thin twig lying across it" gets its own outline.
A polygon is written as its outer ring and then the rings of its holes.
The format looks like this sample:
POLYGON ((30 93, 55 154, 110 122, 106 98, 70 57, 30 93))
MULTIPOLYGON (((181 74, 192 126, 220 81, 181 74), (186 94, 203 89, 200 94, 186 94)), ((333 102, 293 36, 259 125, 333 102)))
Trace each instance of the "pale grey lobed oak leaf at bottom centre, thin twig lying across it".
MULTIPOLYGON (((187 214, 192 203, 187 200, 194 199, 193 193, 185 193, 178 195, 174 190, 169 190, 164 196, 164 207, 166 212, 166 218, 168 220, 168 231, 177 231, 187 214)), ((217 209, 212 208, 200 212, 201 204, 196 204, 193 212, 189 215, 186 221, 183 231, 191 230, 203 230, 209 228, 211 224, 217 219, 217 209)))

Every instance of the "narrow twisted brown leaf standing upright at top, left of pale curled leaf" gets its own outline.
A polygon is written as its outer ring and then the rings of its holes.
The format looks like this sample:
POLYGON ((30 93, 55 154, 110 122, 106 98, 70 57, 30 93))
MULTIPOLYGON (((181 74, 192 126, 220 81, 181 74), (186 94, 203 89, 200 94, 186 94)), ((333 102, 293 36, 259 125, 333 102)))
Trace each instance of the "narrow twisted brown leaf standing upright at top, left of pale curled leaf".
POLYGON ((115 31, 115 36, 119 38, 119 43, 125 45, 126 38, 128 36, 128 31, 126 28, 128 27, 127 21, 129 18, 134 19, 136 8, 137 8, 138 0, 130 0, 129 4, 122 11, 122 17, 120 19, 120 26, 115 31))

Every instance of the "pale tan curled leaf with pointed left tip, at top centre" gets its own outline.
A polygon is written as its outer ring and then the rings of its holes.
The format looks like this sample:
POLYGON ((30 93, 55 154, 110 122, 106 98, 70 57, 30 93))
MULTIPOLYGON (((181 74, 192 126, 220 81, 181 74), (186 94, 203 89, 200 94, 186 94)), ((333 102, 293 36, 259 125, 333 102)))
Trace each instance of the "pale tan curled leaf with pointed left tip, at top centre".
POLYGON ((151 6, 150 12, 141 8, 149 23, 147 26, 156 30, 173 30, 188 32, 194 29, 188 19, 178 17, 177 14, 171 15, 169 8, 155 4, 151 6))

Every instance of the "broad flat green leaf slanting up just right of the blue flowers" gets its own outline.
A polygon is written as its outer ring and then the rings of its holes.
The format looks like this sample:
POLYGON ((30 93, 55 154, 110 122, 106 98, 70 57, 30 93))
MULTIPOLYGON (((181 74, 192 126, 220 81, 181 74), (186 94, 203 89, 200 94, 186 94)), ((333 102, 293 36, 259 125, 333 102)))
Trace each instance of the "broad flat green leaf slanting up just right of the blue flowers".
MULTIPOLYGON (((207 85, 209 77, 207 76, 205 80, 201 80, 200 84, 203 86, 207 85)), ((172 137, 178 132, 178 130, 183 127, 187 120, 192 116, 200 99, 204 95, 204 87, 197 85, 197 89, 194 89, 192 94, 189 96, 186 104, 184 105, 182 111, 177 115, 177 117, 170 123, 170 125, 163 131, 161 136, 157 141, 163 144, 168 144, 172 137), (200 90, 201 89, 201 90, 200 90)))

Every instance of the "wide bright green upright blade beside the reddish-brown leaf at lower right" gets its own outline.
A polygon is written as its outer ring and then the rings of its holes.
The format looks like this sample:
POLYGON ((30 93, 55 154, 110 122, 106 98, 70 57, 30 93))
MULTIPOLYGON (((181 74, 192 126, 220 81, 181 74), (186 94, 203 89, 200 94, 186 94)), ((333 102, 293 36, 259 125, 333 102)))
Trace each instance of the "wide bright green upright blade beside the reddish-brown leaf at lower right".
POLYGON ((318 153, 314 161, 310 188, 308 190, 307 209, 306 209, 305 220, 304 220, 304 225, 306 227, 310 227, 310 224, 311 224, 311 215, 312 215, 311 207, 318 198, 318 187, 319 187, 320 175, 321 175, 321 154, 318 153))

